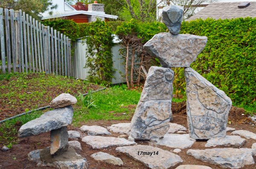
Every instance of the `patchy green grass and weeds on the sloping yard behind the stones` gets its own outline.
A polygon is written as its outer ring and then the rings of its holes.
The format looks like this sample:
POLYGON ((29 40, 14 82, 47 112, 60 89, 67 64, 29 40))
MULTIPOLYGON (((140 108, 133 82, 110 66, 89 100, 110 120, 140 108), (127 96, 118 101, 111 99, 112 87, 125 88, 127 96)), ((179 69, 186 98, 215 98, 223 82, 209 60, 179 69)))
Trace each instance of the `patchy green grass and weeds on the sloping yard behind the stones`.
MULTIPOLYGON (((140 99, 140 92, 128 90, 126 85, 116 85, 92 94, 92 101, 96 107, 83 106, 79 92, 87 93, 89 89, 96 90, 102 86, 87 83, 84 80, 75 80, 42 73, 15 73, 0 74, 0 110, 3 112, 23 113, 26 107, 31 109, 48 106, 50 101, 63 92, 74 95, 78 102, 73 106, 73 126, 80 127, 81 123, 88 120, 131 120, 136 105, 140 99), (29 92, 29 93, 28 93, 29 92), (22 98, 20 98, 22 97, 22 98), (22 103, 23 102, 23 103, 22 103), (25 106, 24 106, 25 105, 25 106), (23 106, 23 107, 22 107, 23 106), (9 109, 6 110, 6 107, 9 109), (22 107, 22 109, 18 109, 22 107)), ((180 102, 185 99, 173 98, 172 101, 180 102)), ((255 108, 245 107, 250 115, 255 113, 255 108)), ((17 129, 20 125, 39 117, 49 111, 33 112, 0 124, 0 146, 11 147, 18 143, 17 129)))

